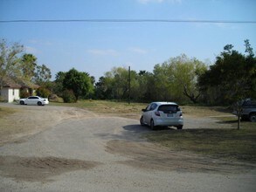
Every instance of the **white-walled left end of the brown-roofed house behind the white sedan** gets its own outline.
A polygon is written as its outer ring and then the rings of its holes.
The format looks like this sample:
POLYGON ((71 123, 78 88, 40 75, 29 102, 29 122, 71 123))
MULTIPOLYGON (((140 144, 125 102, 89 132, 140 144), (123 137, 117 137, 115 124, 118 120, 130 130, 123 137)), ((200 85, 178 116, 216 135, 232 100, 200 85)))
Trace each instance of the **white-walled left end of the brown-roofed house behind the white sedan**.
POLYGON ((0 98, 7 102, 13 102, 19 99, 19 91, 21 86, 14 82, 12 79, 3 80, 3 88, 0 90, 0 98))

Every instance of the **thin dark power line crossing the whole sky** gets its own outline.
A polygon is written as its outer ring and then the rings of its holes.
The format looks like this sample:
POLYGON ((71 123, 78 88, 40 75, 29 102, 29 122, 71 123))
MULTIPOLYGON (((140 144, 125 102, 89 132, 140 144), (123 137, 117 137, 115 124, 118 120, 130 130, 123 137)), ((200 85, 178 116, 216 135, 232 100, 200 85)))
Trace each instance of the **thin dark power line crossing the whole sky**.
POLYGON ((0 23, 203 23, 203 24, 256 24, 246 20, 189 20, 189 19, 17 19, 0 23))

